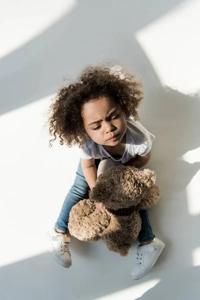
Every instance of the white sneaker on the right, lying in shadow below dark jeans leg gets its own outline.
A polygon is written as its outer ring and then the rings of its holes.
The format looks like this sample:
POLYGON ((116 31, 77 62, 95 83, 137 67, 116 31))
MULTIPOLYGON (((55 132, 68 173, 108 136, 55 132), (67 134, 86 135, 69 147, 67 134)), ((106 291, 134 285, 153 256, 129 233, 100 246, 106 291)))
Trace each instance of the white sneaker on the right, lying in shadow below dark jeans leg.
POLYGON ((136 261, 131 272, 133 279, 140 279, 150 271, 164 246, 165 244, 155 237, 151 243, 137 247, 136 261))

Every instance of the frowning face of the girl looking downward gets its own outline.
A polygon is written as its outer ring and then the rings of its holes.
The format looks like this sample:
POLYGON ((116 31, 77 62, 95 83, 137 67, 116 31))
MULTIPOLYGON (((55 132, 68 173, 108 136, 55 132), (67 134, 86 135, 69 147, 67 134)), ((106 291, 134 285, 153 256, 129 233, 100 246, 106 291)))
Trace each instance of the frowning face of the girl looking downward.
POLYGON ((124 141, 127 128, 125 113, 112 97, 105 95, 85 103, 82 117, 85 136, 94 142, 116 146, 121 140, 124 141))

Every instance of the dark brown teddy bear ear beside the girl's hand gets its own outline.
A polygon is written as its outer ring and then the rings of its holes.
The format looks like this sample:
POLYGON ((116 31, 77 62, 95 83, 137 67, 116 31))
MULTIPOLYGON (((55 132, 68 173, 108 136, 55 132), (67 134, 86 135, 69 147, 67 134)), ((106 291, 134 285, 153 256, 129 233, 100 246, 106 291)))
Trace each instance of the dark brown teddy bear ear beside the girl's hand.
MULTIPOLYGON (((99 176, 100 177, 100 176, 99 176)), ((90 199, 95 202, 101 202, 103 199, 107 198, 113 189, 113 184, 111 180, 99 180, 90 192, 90 199)))

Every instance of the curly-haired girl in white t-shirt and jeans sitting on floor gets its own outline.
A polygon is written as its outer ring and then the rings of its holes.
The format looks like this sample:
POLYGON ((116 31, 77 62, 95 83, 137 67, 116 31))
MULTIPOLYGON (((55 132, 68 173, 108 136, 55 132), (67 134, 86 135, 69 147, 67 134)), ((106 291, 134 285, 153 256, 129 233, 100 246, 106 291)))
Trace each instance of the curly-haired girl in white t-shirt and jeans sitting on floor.
MULTIPOLYGON (((104 66, 88 66, 78 81, 63 87, 51 105, 50 134, 60 144, 79 144, 80 161, 75 181, 69 190, 54 227, 47 235, 55 260, 70 267, 70 238, 68 218, 71 207, 80 199, 88 198, 88 190, 96 183, 98 164, 111 157, 125 165, 137 168, 150 159, 154 135, 138 121, 136 108, 143 93, 141 83, 134 76, 111 71, 104 66)), ((96 208, 105 213, 102 203, 96 208)), ((132 278, 143 277, 152 268, 164 243, 152 233, 147 210, 140 210, 141 231, 132 278)))

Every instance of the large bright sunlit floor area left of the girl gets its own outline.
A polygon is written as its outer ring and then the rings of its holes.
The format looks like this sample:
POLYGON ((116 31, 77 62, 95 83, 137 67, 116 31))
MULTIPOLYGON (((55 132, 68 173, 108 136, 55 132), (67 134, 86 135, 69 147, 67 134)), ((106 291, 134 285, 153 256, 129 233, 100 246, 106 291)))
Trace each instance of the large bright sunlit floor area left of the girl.
POLYGON ((74 180, 78 148, 48 147, 53 96, 0 115, 0 266, 49 252, 45 232, 74 180))

